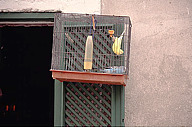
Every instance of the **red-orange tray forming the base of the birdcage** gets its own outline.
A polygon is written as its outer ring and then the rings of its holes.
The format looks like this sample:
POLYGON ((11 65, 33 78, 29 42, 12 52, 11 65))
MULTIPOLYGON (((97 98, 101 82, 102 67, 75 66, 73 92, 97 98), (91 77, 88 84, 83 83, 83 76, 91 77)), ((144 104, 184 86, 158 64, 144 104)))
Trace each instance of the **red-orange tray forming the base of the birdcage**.
POLYGON ((111 84, 126 86, 128 79, 124 74, 108 74, 108 73, 95 73, 95 72, 79 72, 79 71, 63 71, 63 70, 50 70, 52 71, 53 79, 60 82, 84 82, 84 83, 98 83, 98 84, 111 84))

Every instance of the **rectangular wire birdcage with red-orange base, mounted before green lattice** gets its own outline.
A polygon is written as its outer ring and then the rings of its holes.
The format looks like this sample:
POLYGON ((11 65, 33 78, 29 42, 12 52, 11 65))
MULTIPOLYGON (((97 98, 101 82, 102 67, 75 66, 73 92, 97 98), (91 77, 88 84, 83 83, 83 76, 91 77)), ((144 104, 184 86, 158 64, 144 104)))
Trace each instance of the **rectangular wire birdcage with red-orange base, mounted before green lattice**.
POLYGON ((57 13, 52 48, 53 78, 125 85, 130 32, 128 16, 57 13))

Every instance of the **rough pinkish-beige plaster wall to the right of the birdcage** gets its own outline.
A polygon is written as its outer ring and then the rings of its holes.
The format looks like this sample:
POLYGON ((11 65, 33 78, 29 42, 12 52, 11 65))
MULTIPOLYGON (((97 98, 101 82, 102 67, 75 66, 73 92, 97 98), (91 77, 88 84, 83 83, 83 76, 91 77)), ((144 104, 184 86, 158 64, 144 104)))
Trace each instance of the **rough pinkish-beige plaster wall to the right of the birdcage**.
POLYGON ((103 0, 132 20, 125 125, 192 125, 192 0, 103 0))

